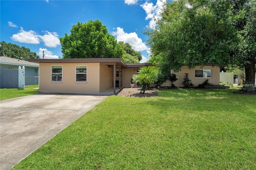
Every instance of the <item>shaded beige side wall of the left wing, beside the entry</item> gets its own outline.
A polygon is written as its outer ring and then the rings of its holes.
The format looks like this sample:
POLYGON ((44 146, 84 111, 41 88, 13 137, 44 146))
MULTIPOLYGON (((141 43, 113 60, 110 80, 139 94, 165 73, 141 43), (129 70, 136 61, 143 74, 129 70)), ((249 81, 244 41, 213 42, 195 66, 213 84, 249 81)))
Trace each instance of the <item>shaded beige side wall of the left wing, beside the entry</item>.
POLYGON ((113 88, 114 69, 107 65, 100 65, 100 93, 113 88))

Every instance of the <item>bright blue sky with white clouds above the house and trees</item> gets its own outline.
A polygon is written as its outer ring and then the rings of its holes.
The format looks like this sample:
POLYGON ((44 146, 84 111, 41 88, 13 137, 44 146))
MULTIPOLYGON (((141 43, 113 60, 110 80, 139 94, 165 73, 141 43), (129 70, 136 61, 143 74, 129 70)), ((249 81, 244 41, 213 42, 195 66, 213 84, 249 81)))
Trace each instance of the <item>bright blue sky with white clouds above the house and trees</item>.
POLYGON ((141 51, 145 62, 150 49, 143 29, 154 27, 162 6, 160 0, 0 0, 0 41, 58 58, 59 38, 69 35, 72 25, 100 20, 116 40, 141 51))

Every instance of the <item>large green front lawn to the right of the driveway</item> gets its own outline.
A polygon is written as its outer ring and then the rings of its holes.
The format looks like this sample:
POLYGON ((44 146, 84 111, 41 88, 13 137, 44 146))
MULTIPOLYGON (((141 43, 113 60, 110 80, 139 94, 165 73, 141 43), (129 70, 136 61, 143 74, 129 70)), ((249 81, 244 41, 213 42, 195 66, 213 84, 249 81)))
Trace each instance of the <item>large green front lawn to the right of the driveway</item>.
POLYGON ((256 169, 256 95, 233 90, 110 96, 13 169, 256 169))

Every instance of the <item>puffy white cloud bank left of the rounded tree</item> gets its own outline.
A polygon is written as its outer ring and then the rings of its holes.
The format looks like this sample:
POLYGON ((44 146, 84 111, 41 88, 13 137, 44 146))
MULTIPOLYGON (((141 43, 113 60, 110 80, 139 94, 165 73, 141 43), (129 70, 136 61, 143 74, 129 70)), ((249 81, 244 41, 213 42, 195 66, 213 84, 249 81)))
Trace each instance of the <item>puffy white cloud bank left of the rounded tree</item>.
POLYGON ((20 31, 17 34, 12 35, 11 39, 16 42, 32 44, 39 44, 42 41, 46 47, 57 47, 57 45, 60 45, 58 36, 58 33, 48 31, 45 31, 45 34, 41 36, 35 31, 24 31, 23 28, 20 27, 20 31))

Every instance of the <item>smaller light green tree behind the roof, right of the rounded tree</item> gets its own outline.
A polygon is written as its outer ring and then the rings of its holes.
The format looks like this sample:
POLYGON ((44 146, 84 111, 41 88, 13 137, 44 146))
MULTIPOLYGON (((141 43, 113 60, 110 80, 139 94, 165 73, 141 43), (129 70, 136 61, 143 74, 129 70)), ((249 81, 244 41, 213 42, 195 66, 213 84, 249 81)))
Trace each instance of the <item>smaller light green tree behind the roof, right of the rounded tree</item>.
POLYGON ((122 49, 124 50, 124 54, 122 55, 122 59, 126 63, 139 63, 142 59, 141 52, 135 51, 132 49, 132 45, 129 43, 124 42, 118 42, 122 46, 122 49))

